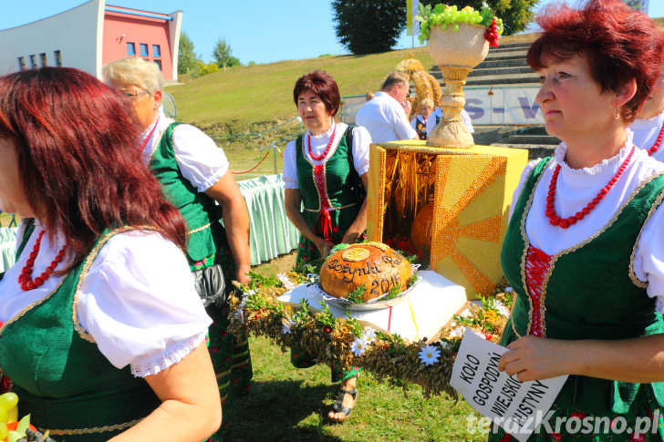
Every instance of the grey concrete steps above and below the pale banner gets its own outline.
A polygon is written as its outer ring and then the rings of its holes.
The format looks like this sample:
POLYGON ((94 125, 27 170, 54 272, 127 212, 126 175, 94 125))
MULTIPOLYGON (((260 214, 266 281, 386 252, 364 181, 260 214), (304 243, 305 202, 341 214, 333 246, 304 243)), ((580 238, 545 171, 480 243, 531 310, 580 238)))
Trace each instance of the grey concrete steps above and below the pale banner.
MULTIPOLYGON (((466 86, 501 87, 539 84, 539 77, 525 61, 530 42, 501 45, 489 49, 489 54, 475 67, 466 86)), ((430 74, 444 87, 439 67, 431 67, 430 74)), ((476 144, 528 149, 528 158, 536 159, 554 154, 559 139, 548 135, 544 126, 478 126, 472 134, 476 144)))

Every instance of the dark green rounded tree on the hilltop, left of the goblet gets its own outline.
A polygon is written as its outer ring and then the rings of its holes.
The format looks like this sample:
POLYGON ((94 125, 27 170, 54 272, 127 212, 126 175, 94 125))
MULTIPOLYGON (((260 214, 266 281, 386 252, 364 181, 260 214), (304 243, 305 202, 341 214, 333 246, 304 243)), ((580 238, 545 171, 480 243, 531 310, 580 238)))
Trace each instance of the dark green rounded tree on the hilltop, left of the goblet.
POLYGON ((353 54, 389 51, 406 27, 403 0, 333 0, 337 39, 353 54))

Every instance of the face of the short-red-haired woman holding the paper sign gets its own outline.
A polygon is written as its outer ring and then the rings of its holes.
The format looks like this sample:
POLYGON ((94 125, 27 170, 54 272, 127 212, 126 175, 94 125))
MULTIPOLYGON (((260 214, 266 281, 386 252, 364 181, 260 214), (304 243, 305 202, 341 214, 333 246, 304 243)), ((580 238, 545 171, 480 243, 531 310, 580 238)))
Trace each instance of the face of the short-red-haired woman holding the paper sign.
POLYGON ((543 61, 545 67, 538 71, 542 86, 535 99, 542 108, 546 132, 569 142, 611 127, 616 95, 602 93, 586 57, 543 61))

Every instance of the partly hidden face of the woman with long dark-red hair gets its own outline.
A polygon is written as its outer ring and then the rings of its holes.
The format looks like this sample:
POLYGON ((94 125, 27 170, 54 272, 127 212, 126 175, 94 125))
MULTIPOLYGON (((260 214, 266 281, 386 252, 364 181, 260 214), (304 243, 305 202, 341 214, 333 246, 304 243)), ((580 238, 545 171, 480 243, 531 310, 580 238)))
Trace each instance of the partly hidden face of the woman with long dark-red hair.
POLYGON ((36 216, 18 178, 18 155, 9 139, 0 139, 0 211, 28 218, 36 216))

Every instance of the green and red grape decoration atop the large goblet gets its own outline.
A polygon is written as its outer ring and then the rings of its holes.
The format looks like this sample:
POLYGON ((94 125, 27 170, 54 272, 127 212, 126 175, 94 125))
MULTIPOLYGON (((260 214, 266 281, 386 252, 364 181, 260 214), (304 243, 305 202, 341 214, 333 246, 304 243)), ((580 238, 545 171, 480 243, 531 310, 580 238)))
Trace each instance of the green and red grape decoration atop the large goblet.
POLYGON ((420 21, 420 44, 429 39, 429 33, 434 26, 441 26, 444 31, 452 26, 455 31, 459 30, 460 23, 486 26, 484 38, 490 46, 498 46, 498 36, 503 35, 503 20, 493 13, 493 9, 486 3, 482 4, 482 10, 476 11, 472 6, 464 6, 461 10, 456 5, 431 5, 418 6, 418 15, 415 19, 420 21))

